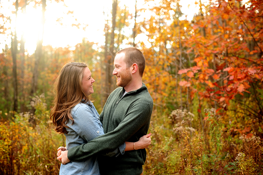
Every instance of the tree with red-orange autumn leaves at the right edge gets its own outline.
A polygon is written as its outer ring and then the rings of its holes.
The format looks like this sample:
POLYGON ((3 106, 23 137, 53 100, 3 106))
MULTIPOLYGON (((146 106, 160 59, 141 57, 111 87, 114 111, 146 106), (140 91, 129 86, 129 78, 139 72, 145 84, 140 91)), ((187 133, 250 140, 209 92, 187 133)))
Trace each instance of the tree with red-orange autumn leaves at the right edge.
POLYGON ((192 74, 181 86, 195 87, 199 97, 218 110, 233 110, 259 123, 263 115, 260 6, 259 1, 202 5, 205 13, 194 18, 193 37, 187 40, 196 66, 179 72, 192 74))

